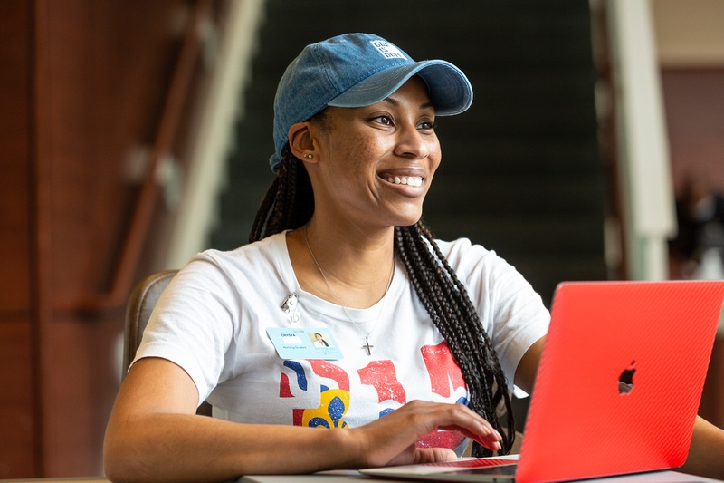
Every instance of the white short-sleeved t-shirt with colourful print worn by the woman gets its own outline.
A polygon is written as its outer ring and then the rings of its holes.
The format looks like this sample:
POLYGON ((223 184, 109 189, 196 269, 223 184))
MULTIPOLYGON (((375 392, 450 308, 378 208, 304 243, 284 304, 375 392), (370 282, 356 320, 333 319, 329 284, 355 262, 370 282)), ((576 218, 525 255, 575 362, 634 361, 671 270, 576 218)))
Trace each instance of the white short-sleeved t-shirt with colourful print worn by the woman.
MULTIPOLYGON (((548 310, 494 252, 465 238, 437 244, 478 308, 512 388, 520 358, 548 330, 548 310)), ((214 417, 239 422, 354 428, 407 401, 469 397, 400 261, 385 298, 345 310, 300 289, 284 233, 195 256, 151 315, 136 359, 149 356, 182 367, 214 417), (291 293, 296 307, 284 312, 291 293), (282 360, 269 327, 303 327, 311 335, 323 329, 342 358, 282 360)), ((447 442, 455 448, 461 441, 447 442)))

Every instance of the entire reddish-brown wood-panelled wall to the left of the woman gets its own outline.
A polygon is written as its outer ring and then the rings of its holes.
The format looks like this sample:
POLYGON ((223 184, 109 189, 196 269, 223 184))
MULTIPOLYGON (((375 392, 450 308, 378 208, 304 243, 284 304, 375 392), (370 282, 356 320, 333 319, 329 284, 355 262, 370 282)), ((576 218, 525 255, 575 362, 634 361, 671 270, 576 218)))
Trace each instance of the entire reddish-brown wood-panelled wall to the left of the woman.
MULTIPOLYGON (((125 299, 84 302, 118 269, 145 168, 129 159, 156 138, 195 3, 3 1, 0 479, 102 473, 125 299)), ((151 208, 156 253, 174 214, 151 208)))

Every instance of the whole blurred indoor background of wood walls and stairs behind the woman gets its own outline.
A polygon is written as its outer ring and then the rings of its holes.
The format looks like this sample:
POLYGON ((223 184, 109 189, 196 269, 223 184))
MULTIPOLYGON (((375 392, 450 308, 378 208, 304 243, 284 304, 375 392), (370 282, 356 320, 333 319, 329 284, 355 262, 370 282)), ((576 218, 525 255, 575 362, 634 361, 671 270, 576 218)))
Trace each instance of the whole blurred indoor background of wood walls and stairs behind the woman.
MULTIPOLYGON (((0 478, 102 474, 129 291, 248 237, 272 101, 371 32, 469 76, 424 219, 564 280, 722 277, 720 0, 5 0, 0 478), (712 208, 713 207, 713 208, 712 208), (717 221, 719 219, 719 221, 717 221)), ((724 426, 724 333, 700 413, 724 426)))

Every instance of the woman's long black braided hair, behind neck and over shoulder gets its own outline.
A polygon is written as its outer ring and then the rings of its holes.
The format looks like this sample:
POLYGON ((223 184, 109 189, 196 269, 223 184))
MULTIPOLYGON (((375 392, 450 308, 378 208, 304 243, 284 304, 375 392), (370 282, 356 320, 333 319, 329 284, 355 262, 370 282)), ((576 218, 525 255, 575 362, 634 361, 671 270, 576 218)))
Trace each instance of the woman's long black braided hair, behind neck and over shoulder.
MULTIPOLYGON (((296 229, 310 220, 314 198, 307 170, 291 154, 281 152, 276 178, 266 191, 249 235, 249 242, 296 229)), ((405 264, 417 296, 447 342, 470 391, 469 407, 490 421, 502 437, 500 452, 508 453, 515 439, 510 394, 488 333, 470 297, 422 220, 409 227, 395 227, 395 252, 405 264), (503 430, 498 408, 506 410, 503 430)), ((491 456, 490 449, 475 442, 472 455, 491 456)))

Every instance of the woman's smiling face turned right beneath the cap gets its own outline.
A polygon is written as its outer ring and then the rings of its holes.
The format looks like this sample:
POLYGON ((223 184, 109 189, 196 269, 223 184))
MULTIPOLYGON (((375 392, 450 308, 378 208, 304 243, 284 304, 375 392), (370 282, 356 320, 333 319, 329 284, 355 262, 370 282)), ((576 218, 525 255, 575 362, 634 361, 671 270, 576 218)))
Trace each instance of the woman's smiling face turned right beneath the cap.
POLYGON ((383 101, 328 110, 311 128, 316 209, 363 225, 416 223, 441 159, 424 82, 414 76, 383 101))

